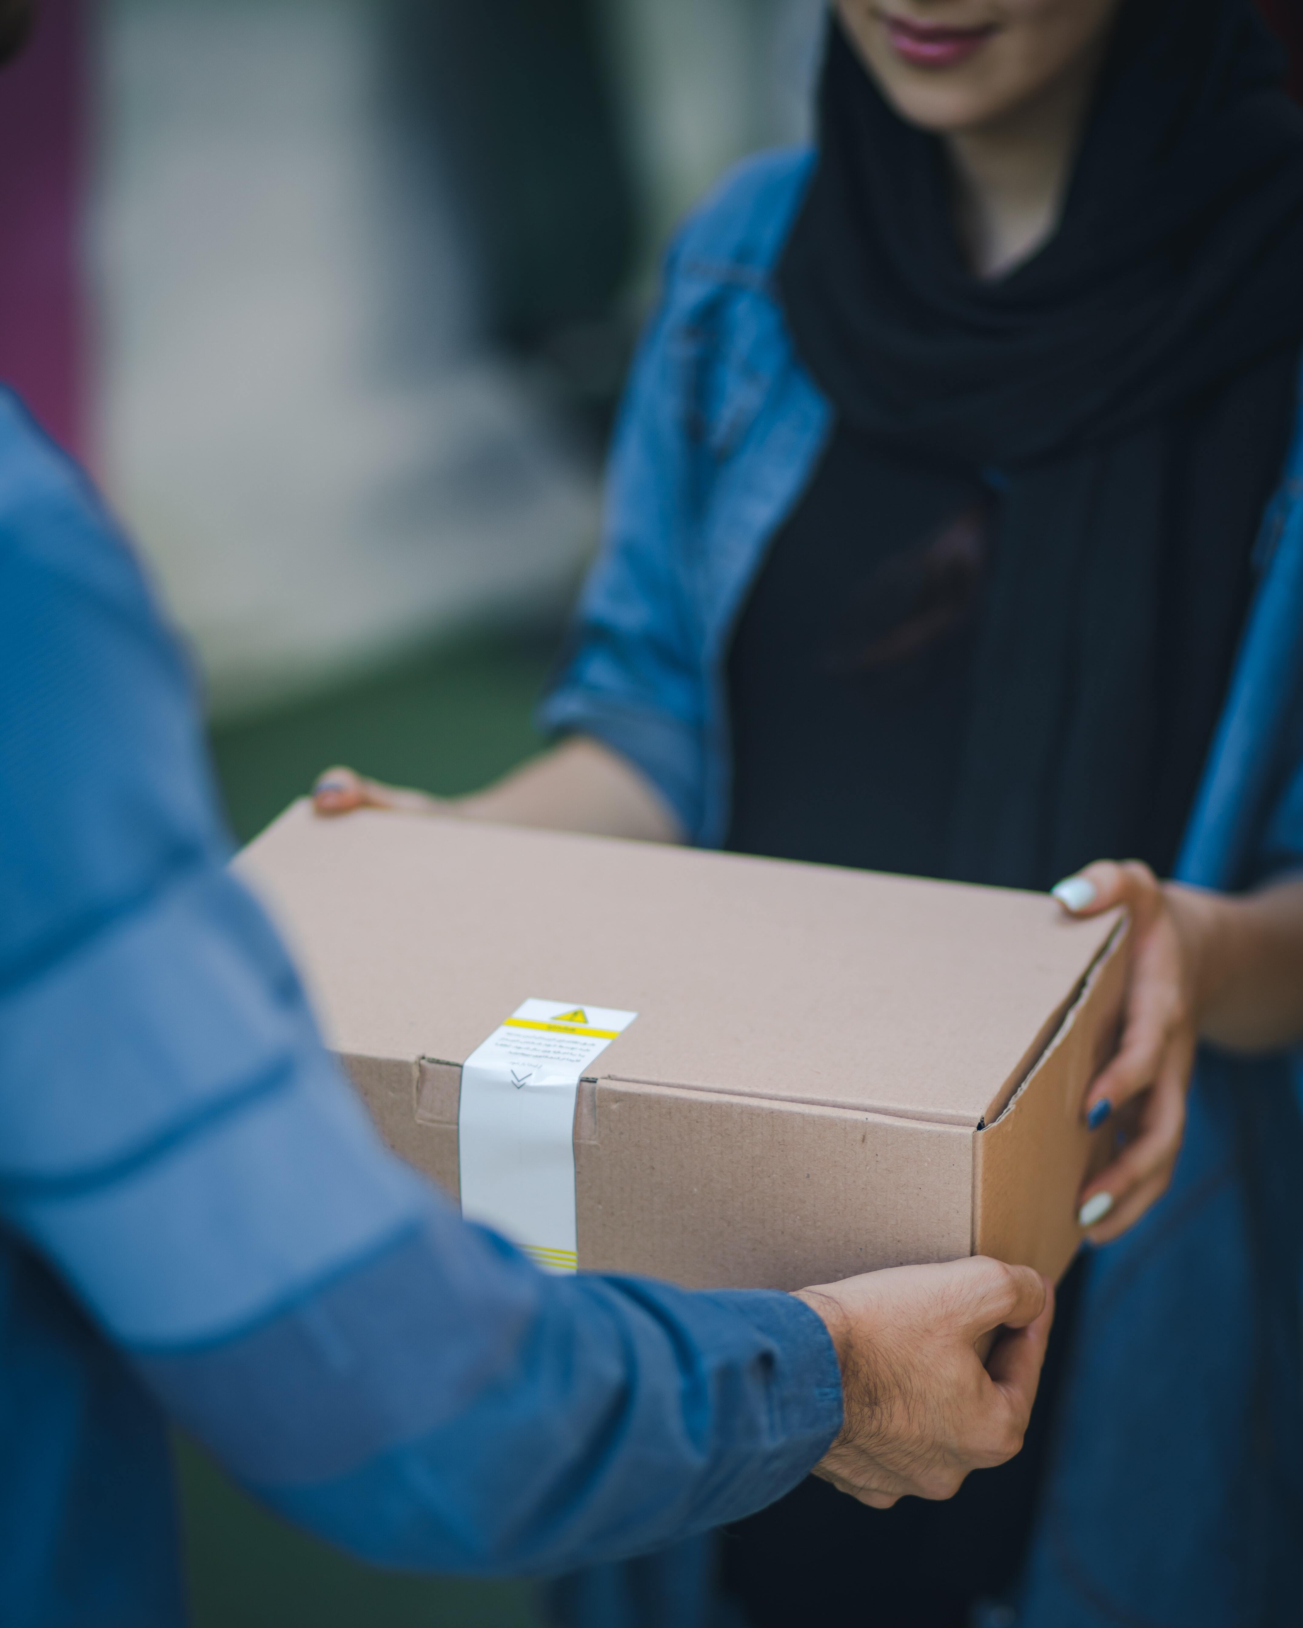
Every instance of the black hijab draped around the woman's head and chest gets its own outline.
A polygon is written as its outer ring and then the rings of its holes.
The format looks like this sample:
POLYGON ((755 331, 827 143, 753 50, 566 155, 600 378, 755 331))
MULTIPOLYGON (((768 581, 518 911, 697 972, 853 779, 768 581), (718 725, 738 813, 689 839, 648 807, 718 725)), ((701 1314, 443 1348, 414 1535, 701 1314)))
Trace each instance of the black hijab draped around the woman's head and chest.
POLYGON ((1282 75, 1246 0, 1124 0, 1059 230, 982 282, 940 142, 831 33, 779 269, 796 350, 857 433, 1002 493, 956 877, 1173 858, 1293 410, 1303 114, 1282 75))

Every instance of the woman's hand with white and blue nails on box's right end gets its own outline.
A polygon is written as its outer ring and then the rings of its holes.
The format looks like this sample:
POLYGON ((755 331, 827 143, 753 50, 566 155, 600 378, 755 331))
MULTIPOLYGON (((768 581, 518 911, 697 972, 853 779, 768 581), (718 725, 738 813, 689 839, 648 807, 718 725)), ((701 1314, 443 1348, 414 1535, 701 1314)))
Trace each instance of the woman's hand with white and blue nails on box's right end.
POLYGON ((1212 920, 1182 910, 1178 894, 1147 864, 1101 861, 1054 889, 1075 917, 1124 905, 1130 912, 1130 975, 1122 1044, 1086 1092, 1095 1128, 1127 1104, 1137 1133, 1112 1164, 1081 1188, 1080 1221, 1095 1244, 1125 1232, 1168 1190, 1186 1128, 1186 1092, 1199 1044, 1204 936, 1212 920))

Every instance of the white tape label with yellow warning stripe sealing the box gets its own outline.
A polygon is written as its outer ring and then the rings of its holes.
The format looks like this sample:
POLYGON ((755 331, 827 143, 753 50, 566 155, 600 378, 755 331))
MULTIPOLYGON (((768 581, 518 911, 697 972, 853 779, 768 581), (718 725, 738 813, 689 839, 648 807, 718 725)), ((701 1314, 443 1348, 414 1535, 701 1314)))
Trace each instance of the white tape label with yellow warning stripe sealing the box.
POLYGON ((577 1001, 524 1001, 461 1065, 461 1213, 554 1271, 578 1263, 580 1078, 637 1016, 577 1001))

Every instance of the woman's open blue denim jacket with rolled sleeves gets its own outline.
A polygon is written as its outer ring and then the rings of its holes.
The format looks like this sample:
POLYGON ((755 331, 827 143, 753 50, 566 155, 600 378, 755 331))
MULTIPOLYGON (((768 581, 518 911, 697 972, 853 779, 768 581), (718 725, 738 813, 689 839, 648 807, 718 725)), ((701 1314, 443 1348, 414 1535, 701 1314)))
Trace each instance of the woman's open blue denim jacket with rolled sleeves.
MULTIPOLYGON (((671 251, 617 435, 604 547, 541 715, 629 757, 700 845, 728 827, 731 630, 832 423, 772 288, 811 163, 751 161, 671 251)), ((1205 887, 1303 863, 1303 428, 1256 573, 1176 871, 1205 887)), ((1303 1620, 1301 1250, 1292 1063, 1205 1052, 1171 1192, 1091 1254, 1020 1625, 1303 1620)), ((674 1628, 692 1628, 715 1620, 709 1576, 684 1548, 562 1592, 583 1628, 652 1628, 671 1599, 674 1628)))

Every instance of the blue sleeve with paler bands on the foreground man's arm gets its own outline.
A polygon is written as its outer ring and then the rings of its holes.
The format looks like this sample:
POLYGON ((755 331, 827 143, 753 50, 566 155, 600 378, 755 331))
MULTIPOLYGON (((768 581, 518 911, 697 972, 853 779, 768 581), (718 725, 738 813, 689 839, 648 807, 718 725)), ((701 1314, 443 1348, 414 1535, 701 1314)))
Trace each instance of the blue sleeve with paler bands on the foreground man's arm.
POLYGON ((0 694, 0 1219, 176 1420, 409 1568, 616 1558, 800 1480, 840 1424, 814 1312, 546 1278, 379 1144, 225 868, 138 567, 11 399, 0 694))

